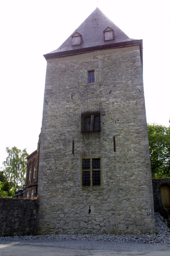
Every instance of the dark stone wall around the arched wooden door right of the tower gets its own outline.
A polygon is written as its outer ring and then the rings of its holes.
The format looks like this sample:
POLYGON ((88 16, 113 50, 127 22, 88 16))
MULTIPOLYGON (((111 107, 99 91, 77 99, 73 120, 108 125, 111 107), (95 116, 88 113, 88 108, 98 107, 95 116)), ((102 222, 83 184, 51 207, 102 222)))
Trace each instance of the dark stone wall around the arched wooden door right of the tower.
POLYGON ((170 178, 153 179, 152 180, 153 201, 154 201, 155 212, 159 212, 159 210, 162 207, 162 198, 161 198, 161 192, 160 192, 160 186, 162 184, 170 185, 170 178))

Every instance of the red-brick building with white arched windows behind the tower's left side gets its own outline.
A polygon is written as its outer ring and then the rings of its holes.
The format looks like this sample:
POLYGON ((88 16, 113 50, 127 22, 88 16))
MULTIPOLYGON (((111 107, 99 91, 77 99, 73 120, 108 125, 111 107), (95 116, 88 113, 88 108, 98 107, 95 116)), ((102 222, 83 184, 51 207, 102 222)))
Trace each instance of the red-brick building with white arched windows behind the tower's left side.
POLYGON ((38 189, 38 173, 39 173, 39 148, 41 133, 37 150, 27 156, 26 182, 25 182, 25 198, 30 199, 37 195, 38 189))

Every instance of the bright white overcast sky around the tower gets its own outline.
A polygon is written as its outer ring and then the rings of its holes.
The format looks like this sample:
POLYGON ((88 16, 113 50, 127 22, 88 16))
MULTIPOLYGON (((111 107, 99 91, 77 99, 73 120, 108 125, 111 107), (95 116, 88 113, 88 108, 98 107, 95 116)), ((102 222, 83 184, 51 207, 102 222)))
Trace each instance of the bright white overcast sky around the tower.
POLYGON ((169 0, 1 0, 0 166, 5 148, 37 149, 46 60, 96 7, 129 37, 143 39, 148 123, 169 126, 169 0))

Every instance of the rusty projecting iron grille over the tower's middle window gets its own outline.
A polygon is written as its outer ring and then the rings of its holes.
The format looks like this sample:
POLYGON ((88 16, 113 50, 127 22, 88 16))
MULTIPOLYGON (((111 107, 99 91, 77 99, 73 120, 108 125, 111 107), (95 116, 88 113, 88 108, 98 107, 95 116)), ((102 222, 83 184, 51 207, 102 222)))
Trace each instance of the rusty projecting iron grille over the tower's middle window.
POLYGON ((100 132, 100 112, 81 113, 81 132, 100 132))

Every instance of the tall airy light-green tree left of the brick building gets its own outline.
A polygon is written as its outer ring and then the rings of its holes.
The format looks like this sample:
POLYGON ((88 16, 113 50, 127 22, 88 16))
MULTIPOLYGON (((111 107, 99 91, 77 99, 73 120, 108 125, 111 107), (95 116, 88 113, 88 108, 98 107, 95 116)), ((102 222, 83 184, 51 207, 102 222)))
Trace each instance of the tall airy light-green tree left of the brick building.
POLYGON ((19 188, 20 186, 25 184, 25 173, 26 173, 26 165, 27 165, 27 152, 26 148, 21 151, 20 149, 13 147, 13 148, 6 148, 6 152, 8 156, 6 161, 3 162, 4 164, 4 174, 9 180, 12 187, 19 188), (20 186, 19 186, 20 184, 20 186))

